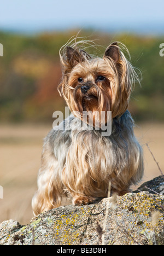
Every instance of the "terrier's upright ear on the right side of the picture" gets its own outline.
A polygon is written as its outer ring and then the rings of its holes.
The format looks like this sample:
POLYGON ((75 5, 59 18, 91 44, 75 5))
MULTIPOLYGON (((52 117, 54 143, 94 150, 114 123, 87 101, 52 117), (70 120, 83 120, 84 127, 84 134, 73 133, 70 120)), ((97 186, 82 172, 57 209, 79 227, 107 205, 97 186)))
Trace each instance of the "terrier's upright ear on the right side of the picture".
POLYGON ((118 43, 115 42, 110 44, 106 49, 104 56, 112 58, 114 62, 117 63, 121 58, 118 43))

